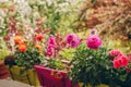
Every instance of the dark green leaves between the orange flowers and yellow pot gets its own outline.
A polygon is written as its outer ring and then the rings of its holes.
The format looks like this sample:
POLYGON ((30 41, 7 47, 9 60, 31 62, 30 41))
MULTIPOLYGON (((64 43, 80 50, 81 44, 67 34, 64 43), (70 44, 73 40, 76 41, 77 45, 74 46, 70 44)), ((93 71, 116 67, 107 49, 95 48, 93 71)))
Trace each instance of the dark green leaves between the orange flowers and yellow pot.
POLYGON ((16 51, 14 54, 15 63, 26 70, 33 69, 35 64, 40 64, 41 55, 37 49, 27 49, 25 52, 16 51))

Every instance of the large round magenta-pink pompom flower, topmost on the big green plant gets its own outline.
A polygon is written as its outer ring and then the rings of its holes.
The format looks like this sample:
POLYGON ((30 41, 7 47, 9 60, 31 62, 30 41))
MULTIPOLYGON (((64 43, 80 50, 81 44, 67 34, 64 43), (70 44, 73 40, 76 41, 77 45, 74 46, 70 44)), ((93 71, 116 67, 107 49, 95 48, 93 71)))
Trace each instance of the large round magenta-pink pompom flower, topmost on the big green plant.
POLYGON ((87 38, 86 44, 90 49, 97 49, 102 46, 102 39, 96 35, 92 35, 87 38))

